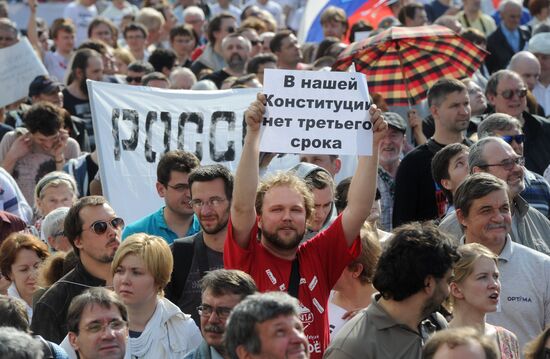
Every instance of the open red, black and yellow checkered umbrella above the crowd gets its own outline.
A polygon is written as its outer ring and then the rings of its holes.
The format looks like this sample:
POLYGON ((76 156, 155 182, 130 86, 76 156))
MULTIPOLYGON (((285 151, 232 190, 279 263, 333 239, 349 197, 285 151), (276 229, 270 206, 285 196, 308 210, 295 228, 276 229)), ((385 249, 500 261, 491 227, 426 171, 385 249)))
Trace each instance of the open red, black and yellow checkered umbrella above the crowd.
POLYGON ((392 27, 351 44, 333 70, 355 70, 367 75, 369 91, 388 105, 407 106, 426 98, 442 77, 470 77, 487 52, 452 30, 439 26, 392 27))

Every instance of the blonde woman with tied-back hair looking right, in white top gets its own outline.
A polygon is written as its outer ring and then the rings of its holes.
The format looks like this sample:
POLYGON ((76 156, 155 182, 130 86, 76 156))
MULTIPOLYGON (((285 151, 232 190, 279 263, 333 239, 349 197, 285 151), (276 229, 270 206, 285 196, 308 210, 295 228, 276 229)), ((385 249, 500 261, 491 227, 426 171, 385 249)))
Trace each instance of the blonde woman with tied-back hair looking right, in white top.
POLYGON ((516 336, 507 329, 485 322, 487 313, 497 310, 500 280, 497 256, 479 243, 459 248, 461 259, 455 264, 449 296, 453 319, 450 327, 474 327, 493 338, 502 359, 519 359, 516 336))

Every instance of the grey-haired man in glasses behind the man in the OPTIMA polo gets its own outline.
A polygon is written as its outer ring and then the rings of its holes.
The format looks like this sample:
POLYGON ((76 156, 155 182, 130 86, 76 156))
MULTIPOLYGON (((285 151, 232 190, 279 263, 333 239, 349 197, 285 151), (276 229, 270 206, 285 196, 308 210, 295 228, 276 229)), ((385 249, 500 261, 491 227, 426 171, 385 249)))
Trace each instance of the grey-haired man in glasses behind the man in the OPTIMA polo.
MULTIPOLYGON (((525 189, 524 158, 502 138, 485 137, 470 148, 468 164, 470 173, 485 172, 506 182, 512 206, 512 240, 550 254, 550 221, 520 196, 525 189)), ((448 215, 439 227, 456 240, 462 237, 463 228, 454 215, 448 215)))

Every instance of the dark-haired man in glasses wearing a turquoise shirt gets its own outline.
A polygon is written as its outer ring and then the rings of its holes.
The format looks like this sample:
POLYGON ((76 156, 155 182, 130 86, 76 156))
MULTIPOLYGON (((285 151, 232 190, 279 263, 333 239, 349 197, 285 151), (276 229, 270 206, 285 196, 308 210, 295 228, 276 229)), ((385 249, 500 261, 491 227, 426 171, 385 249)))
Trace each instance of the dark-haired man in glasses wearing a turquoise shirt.
POLYGON ((147 233, 164 238, 172 244, 177 238, 200 231, 199 221, 189 204, 189 173, 199 167, 199 159, 191 152, 174 150, 166 152, 157 165, 157 192, 164 198, 165 206, 134 223, 122 233, 126 238, 134 233, 147 233))

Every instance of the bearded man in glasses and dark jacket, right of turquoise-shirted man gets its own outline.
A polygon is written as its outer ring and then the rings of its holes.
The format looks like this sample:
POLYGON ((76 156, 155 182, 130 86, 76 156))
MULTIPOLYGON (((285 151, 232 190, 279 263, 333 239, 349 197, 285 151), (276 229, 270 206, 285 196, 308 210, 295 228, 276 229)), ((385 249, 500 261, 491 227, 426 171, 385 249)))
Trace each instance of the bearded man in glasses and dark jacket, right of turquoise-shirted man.
POLYGON ((195 168, 189 174, 191 207, 201 232, 180 238, 171 246, 174 266, 166 298, 200 324, 196 311, 201 301, 199 281, 209 271, 223 268, 223 246, 233 195, 233 175, 222 165, 195 168))

